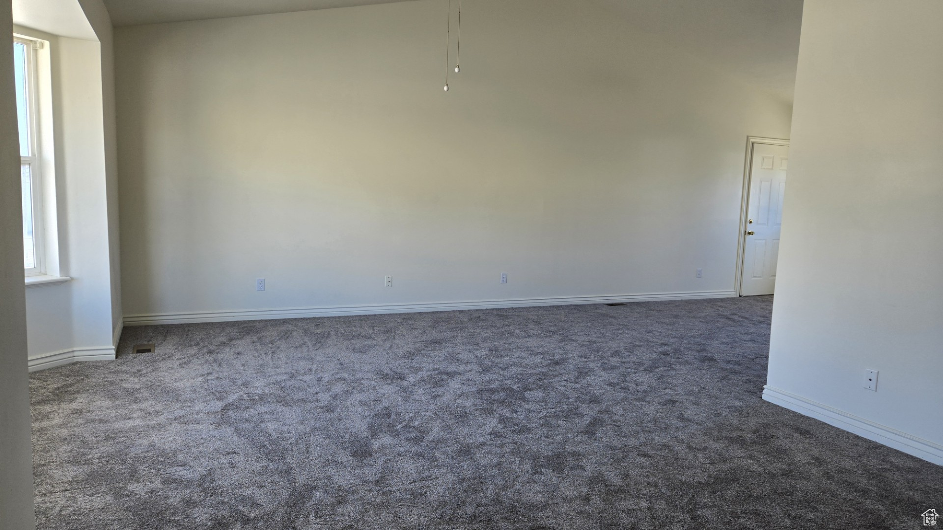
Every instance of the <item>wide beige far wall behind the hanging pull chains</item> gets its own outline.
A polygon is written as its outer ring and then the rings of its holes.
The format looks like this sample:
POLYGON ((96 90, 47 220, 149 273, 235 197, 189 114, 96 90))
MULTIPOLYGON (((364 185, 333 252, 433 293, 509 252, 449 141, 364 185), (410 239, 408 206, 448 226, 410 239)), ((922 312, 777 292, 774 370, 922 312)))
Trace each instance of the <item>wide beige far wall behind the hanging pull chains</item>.
POLYGON ((438 1, 116 28, 124 314, 732 293, 791 83, 608 5, 466 2, 448 93, 438 1))

